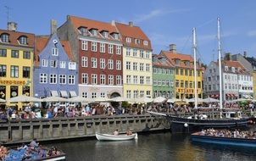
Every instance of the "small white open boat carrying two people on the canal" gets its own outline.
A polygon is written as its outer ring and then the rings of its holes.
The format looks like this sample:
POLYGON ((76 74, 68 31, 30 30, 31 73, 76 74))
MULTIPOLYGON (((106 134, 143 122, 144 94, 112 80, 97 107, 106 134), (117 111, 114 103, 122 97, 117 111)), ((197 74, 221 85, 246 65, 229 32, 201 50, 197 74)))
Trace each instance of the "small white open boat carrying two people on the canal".
POLYGON ((111 134, 96 133, 96 137, 99 141, 129 141, 138 138, 136 133, 132 134, 131 136, 127 136, 126 134, 120 134, 118 136, 115 136, 111 134))

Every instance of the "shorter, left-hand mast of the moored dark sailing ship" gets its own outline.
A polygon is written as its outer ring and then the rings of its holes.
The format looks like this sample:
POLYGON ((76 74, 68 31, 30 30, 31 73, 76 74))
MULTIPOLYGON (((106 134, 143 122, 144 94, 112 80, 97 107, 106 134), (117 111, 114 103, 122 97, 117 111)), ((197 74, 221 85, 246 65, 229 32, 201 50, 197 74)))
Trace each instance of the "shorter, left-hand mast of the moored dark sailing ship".
POLYGON ((193 54, 194 54, 194 79, 195 79, 195 108, 198 108, 198 75, 197 75, 197 42, 196 28, 193 28, 193 54))

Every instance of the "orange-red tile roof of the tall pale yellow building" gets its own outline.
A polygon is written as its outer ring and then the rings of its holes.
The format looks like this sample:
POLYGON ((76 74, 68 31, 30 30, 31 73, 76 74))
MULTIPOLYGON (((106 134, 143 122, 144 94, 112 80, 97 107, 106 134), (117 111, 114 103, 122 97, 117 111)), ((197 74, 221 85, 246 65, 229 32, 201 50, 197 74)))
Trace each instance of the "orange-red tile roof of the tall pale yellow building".
POLYGON ((122 42, 128 47, 138 47, 147 50, 152 50, 151 42, 142 29, 134 25, 125 25, 121 23, 115 23, 118 31, 122 36, 122 42), (126 42, 126 37, 131 37, 131 42, 126 42), (135 43, 135 39, 140 41, 139 44, 135 43), (143 45, 143 41, 147 41, 147 46, 143 45))

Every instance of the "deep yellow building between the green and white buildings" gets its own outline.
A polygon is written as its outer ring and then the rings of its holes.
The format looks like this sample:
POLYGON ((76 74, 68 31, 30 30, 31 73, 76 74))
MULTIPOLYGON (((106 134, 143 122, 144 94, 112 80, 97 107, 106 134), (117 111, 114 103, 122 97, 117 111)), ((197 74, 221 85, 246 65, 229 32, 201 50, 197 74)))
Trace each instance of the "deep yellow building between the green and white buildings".
MULTIPOLYGON (((176 53, 175 44, 170 45, 170 51, 161 51, 163 56, 168 58, 175 66, 175 97, 192 98, 194 97, 194 69, 193 58, 191 55, 176 53)), ((197 69, 198 97, 203 97, 203 73, 202 68, 197 69)))

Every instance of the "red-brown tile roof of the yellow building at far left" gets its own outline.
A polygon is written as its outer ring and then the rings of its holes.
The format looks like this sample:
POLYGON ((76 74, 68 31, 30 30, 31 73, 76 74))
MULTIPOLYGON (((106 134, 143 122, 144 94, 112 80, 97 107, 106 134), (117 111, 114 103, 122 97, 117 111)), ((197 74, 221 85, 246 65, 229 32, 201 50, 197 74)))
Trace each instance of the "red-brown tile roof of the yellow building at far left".
POLYGON ((0 30, 0 36, 4 33, 9 35, 9 42, 0 42, 0 44, 11 45, 11 46, 16 46, 16 47, 34 47, 35 46, 35 35, 34 34, 19 32, 19 31, 0 30), (19 40, 20 36, 27 37, 27 43, 28 43, 27 45, 19 44, 18 40, 19 40))

